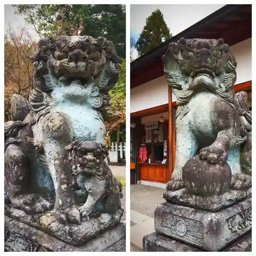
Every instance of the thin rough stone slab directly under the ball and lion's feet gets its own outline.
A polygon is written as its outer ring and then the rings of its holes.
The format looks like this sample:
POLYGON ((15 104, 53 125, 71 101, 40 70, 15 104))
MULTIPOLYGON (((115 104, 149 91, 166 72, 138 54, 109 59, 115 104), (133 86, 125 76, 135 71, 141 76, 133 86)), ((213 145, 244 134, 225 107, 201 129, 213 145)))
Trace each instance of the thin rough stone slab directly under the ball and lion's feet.
POLYGON ((167 203, 180 204, 188 207, 218 211, 225 207, 231 206, 239 201, 251 197, 251 188, 248 190, 234 190, 230 189, 228 192, 221 196, 208 196, 202 197, 191 195, 186 188, 176 191, 167 190, 163 194, 163 198, 167 203))

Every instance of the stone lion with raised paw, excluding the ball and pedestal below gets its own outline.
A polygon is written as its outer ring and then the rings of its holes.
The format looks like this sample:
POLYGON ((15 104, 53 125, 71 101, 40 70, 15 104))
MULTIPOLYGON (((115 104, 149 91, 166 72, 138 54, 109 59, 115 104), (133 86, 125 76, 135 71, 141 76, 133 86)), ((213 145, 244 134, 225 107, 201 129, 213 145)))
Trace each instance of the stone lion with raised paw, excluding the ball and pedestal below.
POLYGON ((211 164, 228 163, 231 187, 251 186, 251 111, 247 94, 234 94, 237 62, 223 39, 169 44, 164 74, 177 97, 176 162, 167 189, 184 187, 182 168, 198 153, 211 164))

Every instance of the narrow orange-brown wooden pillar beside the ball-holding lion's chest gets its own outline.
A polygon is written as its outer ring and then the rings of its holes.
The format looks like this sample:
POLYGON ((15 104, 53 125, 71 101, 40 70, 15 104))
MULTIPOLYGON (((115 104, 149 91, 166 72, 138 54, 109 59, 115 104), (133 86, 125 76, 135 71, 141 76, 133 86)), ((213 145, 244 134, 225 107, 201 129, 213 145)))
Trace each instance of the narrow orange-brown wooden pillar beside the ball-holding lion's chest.
POLYGON ((169 129, 168 129, 168 168, 167 181, 170 180, 173 172, 173 119, 172 119, 172 87, 168 86, 168 110, 169 110, 169 129))

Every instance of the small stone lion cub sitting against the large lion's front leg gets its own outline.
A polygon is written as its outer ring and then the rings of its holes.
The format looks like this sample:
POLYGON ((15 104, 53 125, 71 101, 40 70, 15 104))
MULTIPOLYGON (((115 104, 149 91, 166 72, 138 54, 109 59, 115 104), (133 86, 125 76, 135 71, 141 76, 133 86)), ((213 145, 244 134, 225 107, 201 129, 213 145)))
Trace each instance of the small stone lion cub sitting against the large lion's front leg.
POLYGON ((66 150, 76 189, 87 194, 80 214, 87 220, 93 214, 114 214, 121 208, 122 184, 105 162, 108 155, 105 146, 95 141, 75 141, 66 150))

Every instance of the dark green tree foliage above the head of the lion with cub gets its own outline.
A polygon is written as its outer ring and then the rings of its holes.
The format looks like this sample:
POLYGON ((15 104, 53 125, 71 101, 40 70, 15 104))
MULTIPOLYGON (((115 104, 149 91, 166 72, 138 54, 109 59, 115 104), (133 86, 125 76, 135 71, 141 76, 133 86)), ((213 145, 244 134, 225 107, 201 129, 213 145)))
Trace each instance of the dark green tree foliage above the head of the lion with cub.
POLYGON ((124 5, 14 5, 41 36, 103 36, 125 58, 124 5))

